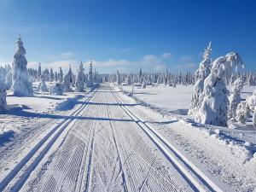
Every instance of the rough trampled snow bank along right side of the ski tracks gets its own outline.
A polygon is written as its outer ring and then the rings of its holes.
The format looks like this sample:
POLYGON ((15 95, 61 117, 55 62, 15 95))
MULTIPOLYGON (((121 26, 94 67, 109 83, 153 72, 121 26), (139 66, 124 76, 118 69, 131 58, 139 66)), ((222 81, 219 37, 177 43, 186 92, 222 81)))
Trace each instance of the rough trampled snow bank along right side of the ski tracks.
MULTIPOLYGON (((247 87, 244 90, 253 89, 247 87)), ((122 98, 124 102, 137 103, 128 96, 122 98)), ((256 131, 249 128, 250 131, 230 132, 229 128, 195 125, 187 119, 188 117, 180 120, 175 115, 163 117, 158 111, 149 110, 148 107, 141 105, 127 108, 137 113, 143 122, 148 122, 148 125, 159 131, 162 137, 172 143, 218 186, 222 186, 224 191, 256 189, 256 164, 253 157, 256 154, 256 131), (241 142, 242 140, 248 141, 241 142)))

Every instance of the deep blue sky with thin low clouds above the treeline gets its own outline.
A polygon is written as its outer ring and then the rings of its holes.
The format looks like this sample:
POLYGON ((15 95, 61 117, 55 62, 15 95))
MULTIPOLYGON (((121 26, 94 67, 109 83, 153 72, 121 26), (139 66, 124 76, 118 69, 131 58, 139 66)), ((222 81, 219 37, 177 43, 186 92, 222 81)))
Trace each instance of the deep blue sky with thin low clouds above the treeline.
POLYGON ((0 0, 0 63, 13 60, 20 32, 29 67, 192 71, 212 41, 213 59, 236 51, 255 70, 255 9, 253 0, 0 0))

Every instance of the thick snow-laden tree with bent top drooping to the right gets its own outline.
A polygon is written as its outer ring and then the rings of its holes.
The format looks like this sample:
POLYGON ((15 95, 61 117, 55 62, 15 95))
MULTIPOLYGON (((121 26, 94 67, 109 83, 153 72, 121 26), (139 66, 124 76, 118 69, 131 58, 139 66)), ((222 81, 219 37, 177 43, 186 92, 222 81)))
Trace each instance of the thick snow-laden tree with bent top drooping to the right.
POLYGON ((211 73, 204 81, 203 100, 195 121, 208 125, 227 125, 228 90, 224 83, 227 75, 234 73, 238 67, 244 67, 240 55, 229 53, 212 62, 211 73))

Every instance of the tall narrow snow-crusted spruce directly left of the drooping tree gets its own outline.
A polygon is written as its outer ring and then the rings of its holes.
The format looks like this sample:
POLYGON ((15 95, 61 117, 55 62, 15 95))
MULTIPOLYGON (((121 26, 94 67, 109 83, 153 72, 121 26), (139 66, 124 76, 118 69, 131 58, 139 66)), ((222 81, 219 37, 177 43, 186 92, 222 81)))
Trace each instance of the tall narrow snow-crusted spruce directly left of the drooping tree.
POLYGON ((191 104, 189 107, 189 115, 195 115, 198 109, 201 107, 202 102, 202 91, 204 89, 204 80, 210 74, 210 66, 211 66, 211 42, 205 49, 203 60, 199 64, 199 68, 195 71, 195 86, 194 86, 194 93, 192 96, 191 104))

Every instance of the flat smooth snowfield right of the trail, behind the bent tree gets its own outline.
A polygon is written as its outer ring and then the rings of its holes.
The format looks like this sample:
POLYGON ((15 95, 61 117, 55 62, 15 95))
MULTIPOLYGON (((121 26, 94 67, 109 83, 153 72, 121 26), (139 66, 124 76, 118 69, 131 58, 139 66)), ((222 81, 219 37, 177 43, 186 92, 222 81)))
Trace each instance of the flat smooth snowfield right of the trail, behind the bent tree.
MULTIPOLYGON (((132 92, 132 85, 120 86, 126 92, 132 92)), ((230 86, 227 87, 230 90, 230 86)), ((244 86, 241 98, 253 94, 256 86, 244 86)), ((133 96, 142 102, 146 102, 169 113, 186 115, 191 103, 194 85, 177 85, 176 88, 165 84, 148 85, 146 89, 141 86, 133 87, 133 96)))

